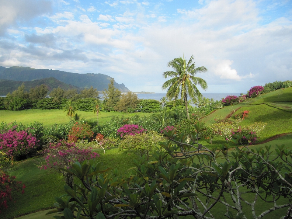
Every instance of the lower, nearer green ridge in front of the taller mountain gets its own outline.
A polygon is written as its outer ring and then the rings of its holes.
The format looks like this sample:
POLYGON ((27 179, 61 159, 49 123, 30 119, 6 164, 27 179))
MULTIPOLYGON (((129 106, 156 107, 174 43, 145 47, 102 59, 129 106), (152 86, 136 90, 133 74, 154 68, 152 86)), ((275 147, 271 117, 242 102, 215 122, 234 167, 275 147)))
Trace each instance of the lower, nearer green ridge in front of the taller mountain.
MULTIPOLYGON (((7 95, 8 92, 12 93, 14 90, 16 90, 23 81, 13 81, 13 80, 5 80, 0 79, 0 95, 7 95)), ((76 87, 74 85, 68 85, 64 82, 59 81, 56 78, 43 78, 43 79, 36 79, 33 81, 24 81, 25 91, 29 92, 30 88, 35 87, 37 85, 47 85, 50 93, 54 88, 60 87, 64 90, 68 89, 77 89, 77 92, 80 92, 82 89, 79 87, 76 87)))

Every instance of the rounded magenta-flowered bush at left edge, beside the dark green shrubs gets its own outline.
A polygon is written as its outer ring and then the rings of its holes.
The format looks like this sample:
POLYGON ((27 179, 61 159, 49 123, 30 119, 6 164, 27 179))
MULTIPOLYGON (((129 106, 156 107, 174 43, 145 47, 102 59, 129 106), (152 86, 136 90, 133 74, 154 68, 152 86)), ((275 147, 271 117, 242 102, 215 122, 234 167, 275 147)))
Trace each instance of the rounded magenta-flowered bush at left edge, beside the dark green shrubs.
POLYGON ((0 134, 0 150, 12 159, 19 159, 19 157, 29 154, 36 147, 36 144, 36 137, 24 130, 10 129, 0 134))

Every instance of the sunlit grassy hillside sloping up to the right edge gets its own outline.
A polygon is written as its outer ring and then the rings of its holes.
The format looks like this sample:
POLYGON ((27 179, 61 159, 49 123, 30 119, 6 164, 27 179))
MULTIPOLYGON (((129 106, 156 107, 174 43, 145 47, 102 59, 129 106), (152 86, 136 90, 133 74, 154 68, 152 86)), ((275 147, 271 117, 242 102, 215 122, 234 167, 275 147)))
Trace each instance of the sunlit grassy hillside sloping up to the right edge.
MULTIPOLYGON (((277 134, 291 133, 292 87, 269 92, 234 106, 225 106, 202 118, 201 121, 210 125, 214 123, 216 116, 225 118, 228 114, 234 113, 232 116, 234 118, 235 114, 245 110, 250 113, 245 120, 239 123, 240 126, 247 126, 255 122, 267 123, 265 129, 259 133, 259 141, 264 141, 277 134), (237 111, 234 113, 235 110, 237 111)), ((216 144, 216 138, 214 140, 216 144)))

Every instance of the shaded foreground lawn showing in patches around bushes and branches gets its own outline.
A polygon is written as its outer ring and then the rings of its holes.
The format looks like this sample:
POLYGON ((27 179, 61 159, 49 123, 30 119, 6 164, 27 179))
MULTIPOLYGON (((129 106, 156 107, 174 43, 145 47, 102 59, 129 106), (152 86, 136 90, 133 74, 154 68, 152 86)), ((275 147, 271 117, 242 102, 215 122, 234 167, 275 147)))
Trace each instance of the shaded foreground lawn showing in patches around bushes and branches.
MULTIPOLYGON (((277 138, 266 144, 250 146, 250 148, 264 147, 265 145, 272 145, 272 150, 276 147, 276 144, 285 144, 287 148, 292 148, 292 134, 277 138)), ((117 168, 118 171, 123 174, 130 167, 133 167, 132 161, 137 158, 137 155, 133 153, 121 153, 118 148, 107 150, 106 154, 103 154, 102 150, 97 150, 100 157, 97 161, 102 161, 104 166, 112 169, 117 168)), ((53 208, 54 197, 64 194, 63 186, 64 181, 59 173, 51 170, 39 170, 36 165, 40 162, 40 158, 28 159, 25 161, 17 162, 18 169, 11 172, 11 175, 15 175, 17 180, 26 184, 25 193, 18 196, 16 203, 13 207, 5 210, 0 214, 0 218, 8 219, 12 217, 19 217, 24 214, 36 212, 38 210, 53 208)), ((198 160, 195 158, 195 162, 198 160)), ((269 204, 260 203, 257 208, 259 211, 264 210, 269 204)), ((249 216, 248 206, 244 206, 247 216, 249 216)), ((217 204, 212 210, 213 213, 223 214, 226 210, 221 204, 217 204)), ((276 210, 270 213, 264 218, 276 218, 276 215, 283 215, 285 209, 276 210)), ((52 217, 44 217, 47 211, 37 212, 35 214, 26 215, 20 217, 21 219, 49 219, 52 217)), ((53 216, 53 215, 51 215, 53 216)), ((192 218, 192 217, 189 217, 192 218)), ((250 218, 250 217, 248 217, 250 218)), ((277 217, 279 218, 279 217, 277 217)))

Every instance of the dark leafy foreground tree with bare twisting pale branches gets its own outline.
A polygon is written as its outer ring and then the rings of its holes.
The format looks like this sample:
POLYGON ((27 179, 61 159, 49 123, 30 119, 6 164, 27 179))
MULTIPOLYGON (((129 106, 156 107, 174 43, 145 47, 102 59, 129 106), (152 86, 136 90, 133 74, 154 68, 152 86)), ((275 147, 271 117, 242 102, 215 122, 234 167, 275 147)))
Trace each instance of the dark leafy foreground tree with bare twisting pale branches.
MULTIPOLYGON (((64 171, 77 177, 82 184, 74 184, 73 188, 64 186, 66 194, 56 198, 58 210, 51 213, 60 211, 68 219, 73 219, 73 215, 154 219, 192 215, 196 219, 224 216, 246 219, 242 207, 245 203, 253 218, 286 207, 286 216, 281 216, 292 217, 292 178, 285 173, 292 172, 291 151, 285 150, 284 145, 278 146, 274 157, 268 146, 249 149, 240 141, 241 136, 210 150, 196 141, 197 132, 165 132, 169 140, 160 144, 161 150, 153 154, 153 160, 148 161, 147 156, 134 160, 135 168, 126 176, 109 172, 101 162, 75 162, 71 169, 64 171), (242 144, 243 148, 237 144, 242 144), (236 150, 230 153, 229 148, 234 145, 236 150), (197 163, 194 158, 204 162, 197 163), (245 199, 246 193, 252 195, 251 200, 245 199), (258 212, 255 208, 258 200, 271 202, 273 206, 258 212), (226 206, 225 215, 213 214, 212 208, 218 203, 226 206)), ((249 136, 246 138, 249 141, 249 136)))

